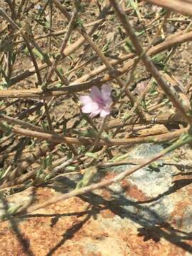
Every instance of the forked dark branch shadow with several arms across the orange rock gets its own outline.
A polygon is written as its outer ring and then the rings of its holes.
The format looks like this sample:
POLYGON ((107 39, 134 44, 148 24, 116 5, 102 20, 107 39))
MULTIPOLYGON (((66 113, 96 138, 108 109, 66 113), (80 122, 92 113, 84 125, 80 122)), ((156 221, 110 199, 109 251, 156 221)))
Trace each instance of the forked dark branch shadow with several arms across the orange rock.
MULTIPOLYGON (((75 235, 80 228, 82 228, 82 225, 86 223, 87 220, 90 219, 90 216, 94 215, 95 218, 97 218, 97 213, 100 213, 102 210, 110 210, 115 215, 119 215, 120 218, 127 218, 129 220, 132 220, 132 222, 137 223, 142 226, 142 228, 138 228, 138 236, 144 237, 144 242, 147 240, 154 240, 155 242, 159 242, 161 238, 164 238, 165 240, 171 242, 172 244, 181 247, 183 250, 186 250, 187 252, 192 253, 192 247, 189 245, 185 240, 192 240, 192 233, 187 233, 183 230, 178 230, 176 228, 173 228, 170 223, 168 223, 162 216, 160 216, 158 213, 156 213, 155 210, 152 210, 149 208, 149 206, 144 206, 142 203, 151 203, 153 201, 158 201, 159 198, 162 196, 167 196, 170 193, 176 192, 179 188, 183 188, 183 186, 187 186, 190 184, 192 179, 183 179, 181 181, 175 181, 174 186, 169 188, 168 191, 165 193, 157 196, 156 198, 153 198, 152 201, 145 201, 145 202, 135 202, 124 196, 122 193, 114 193, 114 191, 111 191, 110 188, 103 188, 110 190, 110 193, 113 194, 115 197, 112 200, 106 200, 100 195, 97 195, 93 192, 85 193, 83 195, 78 196, 83 201, 87 202, 92 206, 91 210, 85 210, 82 212, 74 212, 74 213, 63 213, 63 214, 28 214, 22 216, 22 218, 33 218, 33 217, 53 217, 53 220, 51 221, 52 227, 55 225, 55 223, 58 221, 60 217, 64 216, 82 216, 87 215, 82 222, 75 224, 72 228, 69 230, 66 230, 63 234, 63 239, 58 242, 53 249, 48 252, 47 256, 50 256, 55 252, 55 250, 58 249, 61 245, 65 243, 66 240, 73 238, 73 235, 75 235), (102 207, 101 207, 102 206, 102 207), (137 210, 137 214, 132 210, 132 208, 135 208, 137 210), (130 209, 131 210, 130 210, 130 209)), ((70 189, 75 188, 76 183, 75 181, 71 181, 70 178, 63 178, 61 183, 66 185, 66 183, 70 184, 70 189)), ((46 184, 46 187, 53 188, 55 191, 66 193, 66 187, 64 186, 64 189, 62 191, 62 186, 53 186, 52 184, 46 184)))

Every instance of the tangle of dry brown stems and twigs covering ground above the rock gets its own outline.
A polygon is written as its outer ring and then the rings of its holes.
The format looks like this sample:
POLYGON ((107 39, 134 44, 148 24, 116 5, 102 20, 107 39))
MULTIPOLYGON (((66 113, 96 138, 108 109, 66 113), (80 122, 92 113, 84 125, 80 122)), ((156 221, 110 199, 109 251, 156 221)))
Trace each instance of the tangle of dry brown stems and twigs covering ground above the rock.
POLYGON ((1 198, 82 176, 3 219, 118 183, 191 144, 191 1, 0 4, 1 198), (137 144, 165 142, 132 169, 101 172, 132 163, 137 144))

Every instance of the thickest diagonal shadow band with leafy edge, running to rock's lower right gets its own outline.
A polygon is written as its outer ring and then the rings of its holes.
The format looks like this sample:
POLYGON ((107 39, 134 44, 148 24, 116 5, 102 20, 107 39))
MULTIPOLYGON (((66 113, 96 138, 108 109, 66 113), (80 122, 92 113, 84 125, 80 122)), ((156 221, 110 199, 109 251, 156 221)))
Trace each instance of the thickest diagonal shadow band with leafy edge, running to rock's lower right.
POLYGON ((152 239, 159 242, 161 238, 164 238, 172 244, 181 247, 183 250, 192 253, 191 245, 183 241, 192 240, 192 233, 173 228, 164 218, 161 218, 161 216, 147 206, 141 206, 139 203, 130 201, 124 196, 119 196, 119 198, 112 201, 106 201, 102 197, 96 196, 94 193, 89 193, 88 195, 80 196, 80 198, 92 204, 100 203, 111 210, 115 215, 119 215, 121 218, 128 218, 134 223, 142 225, 142 228, 138 228, 138 236, 144 236, 144 241, 152 239), (137 212, 142 212, 142 214, 136 215, 131 210, 124 208, 125 206, 134 206, 137 208, 137 212), (145 218, 145 214, 143 213, 146 213, 149 218, 145 218), (156 223, 153 221, 150 223, 150 218, 155 219, 156 223))

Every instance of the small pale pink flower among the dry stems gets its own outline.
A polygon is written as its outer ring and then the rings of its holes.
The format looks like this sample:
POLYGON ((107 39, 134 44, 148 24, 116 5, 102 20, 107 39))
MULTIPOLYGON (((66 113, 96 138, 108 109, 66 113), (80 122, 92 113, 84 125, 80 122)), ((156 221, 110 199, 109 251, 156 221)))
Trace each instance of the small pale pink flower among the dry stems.
POLYGON ((110 114, 111 91, 110 85, 102 85, 101 91, 96 86, 92 86, 90 95, 80 97, 80 102, 84 105, 82 112, 90 113, 90 117, 95 117, 97 114, 106 117, 110 114))

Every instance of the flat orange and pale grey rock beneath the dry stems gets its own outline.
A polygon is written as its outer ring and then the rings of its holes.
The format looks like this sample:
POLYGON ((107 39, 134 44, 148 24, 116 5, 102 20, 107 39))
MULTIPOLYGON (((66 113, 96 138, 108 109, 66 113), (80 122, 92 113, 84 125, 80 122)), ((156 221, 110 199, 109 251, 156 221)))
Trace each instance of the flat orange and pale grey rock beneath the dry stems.
MULTIPOLYGON (((162 148, 139 145, 129 157, 150 157, 162 148)), ((191 173, 158 163, 157 169, 148 166, 108 188, 9 218, 0 227, 1 255, 192 255, 191 173)), ((105 171, 112 177, 127 168, 131 166, 105 171)), ((58 186, 57 178, 57 186, 30 188, 11 196, 11 202, 23 198, 31 203, 33 196, 33 202, 41 203, 66 193, 75 182, 60 178, 58 186)))

